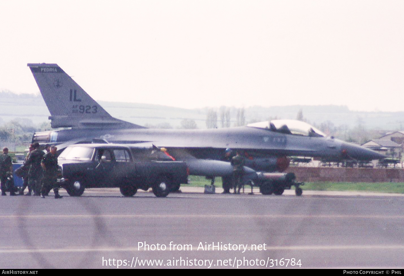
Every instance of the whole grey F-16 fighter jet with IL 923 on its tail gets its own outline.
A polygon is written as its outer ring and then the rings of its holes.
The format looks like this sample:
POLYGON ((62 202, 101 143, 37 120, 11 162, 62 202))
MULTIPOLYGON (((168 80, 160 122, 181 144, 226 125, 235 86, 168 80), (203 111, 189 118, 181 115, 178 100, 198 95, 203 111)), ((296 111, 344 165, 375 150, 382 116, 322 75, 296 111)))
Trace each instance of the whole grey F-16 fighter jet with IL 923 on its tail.
POLYGON ((246 175, 282 172, 288 167, 288 156, 358 161, 385 157, 362 146, 327 137, 313 126, 295 120, 207 130, 145 128, 109 115, 57 64, 29 63, 28 67, 49 109, 52 128, 69 128, 37 132, 33 142, 58 144, 59 149, 93 139, 139 147, 153 145, 166 148, 168 155, 185 161, 191 175, 221 176, 227 183, 231 182, 232 174, 225 155, 229 149, 244 152, 246 175))

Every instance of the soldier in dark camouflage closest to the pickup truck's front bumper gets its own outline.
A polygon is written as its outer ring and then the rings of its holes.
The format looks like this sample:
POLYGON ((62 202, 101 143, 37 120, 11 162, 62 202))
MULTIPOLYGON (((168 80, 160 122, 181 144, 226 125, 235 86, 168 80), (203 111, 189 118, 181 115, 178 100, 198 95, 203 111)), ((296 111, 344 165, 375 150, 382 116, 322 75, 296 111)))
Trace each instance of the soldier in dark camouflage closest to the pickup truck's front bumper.
POLYGON ((45 192, 47 187, 53 187, 55 193, 55 199, 61 199, 59 195, 59 184, 57 184, 57 148, 55 146, 50 147, 50 152, 44 155, 41 161, 41 167, 44 169, 44 176, 42 178, 41 197, 45 198, 45 192))

